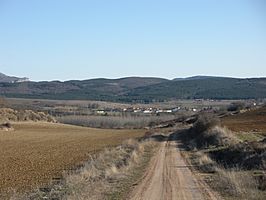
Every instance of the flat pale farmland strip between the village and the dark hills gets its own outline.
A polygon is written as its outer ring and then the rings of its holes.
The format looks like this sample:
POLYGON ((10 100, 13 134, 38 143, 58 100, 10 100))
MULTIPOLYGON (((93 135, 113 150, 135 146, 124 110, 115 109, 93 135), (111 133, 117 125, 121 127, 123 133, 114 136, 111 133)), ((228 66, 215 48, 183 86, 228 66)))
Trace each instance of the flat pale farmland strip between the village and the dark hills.
POLYGON ((141 103, 117 103, 92 100, 48 100, 48 99, 18 99, 18 98, 0 98, 0 107, 9 107, 13 109, 29 109, 33 111, 42 111, 52 116, 65 115, 94 115, 97 110, 105 110, 109 115, 121 114, 123 109, 129 107, 135 108, 158 108, 171 109, 180 107, 181 110, 196 108, 197 110, 212 107, 226 108, 235 100, 173 100, 166 102, 154 102, 148 104, 141 103), (110 112, 115 111, 115 112, 110 112))

